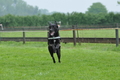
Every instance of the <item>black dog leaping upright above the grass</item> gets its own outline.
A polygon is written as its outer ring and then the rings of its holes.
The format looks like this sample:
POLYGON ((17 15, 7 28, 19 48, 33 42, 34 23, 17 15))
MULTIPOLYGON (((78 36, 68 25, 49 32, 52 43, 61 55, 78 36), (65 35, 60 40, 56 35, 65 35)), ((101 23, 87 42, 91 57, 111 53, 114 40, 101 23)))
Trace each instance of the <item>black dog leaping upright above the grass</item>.
POLYGON ((61 51, 60 51, 60 37, 59 37, 59 27, 57 22, 55 24, 49 23, 48 28, 48 50, 53 59, 53 62, 56 63, 54 58, 54 53, 57 53, 58 62, 60 63, 61 51))

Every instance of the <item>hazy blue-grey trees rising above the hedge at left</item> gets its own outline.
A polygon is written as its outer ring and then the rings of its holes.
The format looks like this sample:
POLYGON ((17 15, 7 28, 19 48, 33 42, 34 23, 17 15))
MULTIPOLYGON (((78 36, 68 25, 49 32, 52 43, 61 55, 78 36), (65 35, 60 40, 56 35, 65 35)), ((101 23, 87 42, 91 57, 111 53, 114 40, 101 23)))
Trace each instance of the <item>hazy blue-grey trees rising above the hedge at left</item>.
POLYGON ((12 15, 38 15, 50 14, 47 9, 39 9, 37 6, 28 5, 23 0, 0 0, 0 16, 12 15))

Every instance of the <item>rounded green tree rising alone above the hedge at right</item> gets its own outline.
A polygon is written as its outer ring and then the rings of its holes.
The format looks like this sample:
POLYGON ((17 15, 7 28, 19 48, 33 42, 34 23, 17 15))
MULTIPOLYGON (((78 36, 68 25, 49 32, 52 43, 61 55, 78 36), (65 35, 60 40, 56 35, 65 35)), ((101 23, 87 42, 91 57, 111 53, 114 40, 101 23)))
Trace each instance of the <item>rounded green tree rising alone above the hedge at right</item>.
POLYGON ((92 6, 88 8, 88 11, 86 13, 94 13, 94 14, 107 13, 107 9, 102 3, 97 2, 97 3, 93 3, 92 6))

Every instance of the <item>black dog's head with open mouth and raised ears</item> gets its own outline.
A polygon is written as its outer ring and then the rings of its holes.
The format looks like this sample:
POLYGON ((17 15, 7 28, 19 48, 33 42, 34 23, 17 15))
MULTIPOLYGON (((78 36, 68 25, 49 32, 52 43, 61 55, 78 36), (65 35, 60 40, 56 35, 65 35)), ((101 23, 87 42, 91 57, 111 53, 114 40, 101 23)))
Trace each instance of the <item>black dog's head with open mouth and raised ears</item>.
POLYGON ((57 37, 59 36, 59 26, 55 22, 55 24, 49 23, 49 37, 57 37))

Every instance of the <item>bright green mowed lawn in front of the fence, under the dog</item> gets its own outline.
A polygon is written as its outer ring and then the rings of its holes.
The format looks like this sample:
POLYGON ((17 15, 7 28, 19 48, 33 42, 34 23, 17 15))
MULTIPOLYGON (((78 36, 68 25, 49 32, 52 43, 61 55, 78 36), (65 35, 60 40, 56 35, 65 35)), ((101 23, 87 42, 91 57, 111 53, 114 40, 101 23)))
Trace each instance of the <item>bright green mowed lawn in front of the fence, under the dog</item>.
POLYGON ((0 42, 0 80, 120 80, 115 44, 61 46, 61 63, 54 64, 46 42, 0 42))

